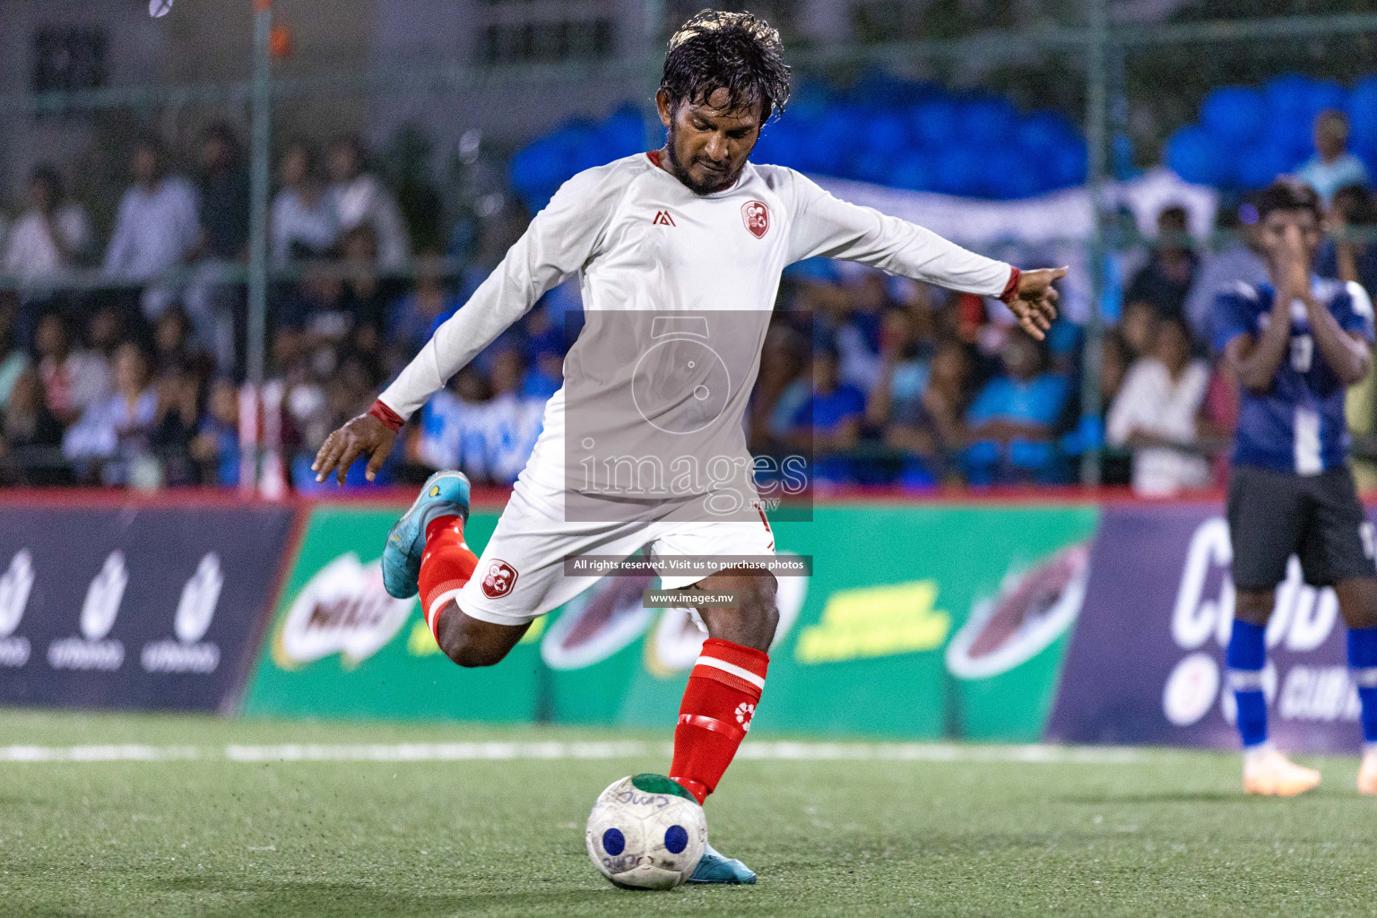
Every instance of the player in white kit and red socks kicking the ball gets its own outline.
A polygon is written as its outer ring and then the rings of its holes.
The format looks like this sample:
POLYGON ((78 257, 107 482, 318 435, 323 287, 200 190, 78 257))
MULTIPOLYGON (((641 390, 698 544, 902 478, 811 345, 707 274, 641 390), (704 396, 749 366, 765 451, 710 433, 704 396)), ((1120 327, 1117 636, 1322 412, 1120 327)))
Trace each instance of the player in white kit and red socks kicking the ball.
MULTIPOLYGON (((845 204, 792 169, 748 162, 761 127, 789 94, 778 33, 749 14, 705 11, 669 41, 655 96, 665 146, 588 169, 565 183, 472 299, 379 396, 321 446, 319 480, 340 482, 361 456, 372 479, 397 431, 432 392, 518 321, 551 288, 578 274, 589 326, 606 311, 757 311, 768 319, 784 268, 815 256, 850 259, 956 290, 1000 297, 1041 339, 1056 315, 1053 281, 1064 268, 1019 271, 967 252, 912 223, 845 204)), ((724 407, 720 429, 739 431, 763 343, 753 341, 746 384, 724 407)), ((753 333, 752 333, 753 334, 753 333)), ((383 556, 387 589, 421 597, 435 640, 460 666, 490 666, 530 622, 569 601, 598 577, 566 575, 565 560, 768 556, 774 537, 756 519, 684 520, 654 506, 633 520, 573 520, 562 512, 578 487, 566 480, 566 399, 581 344, 566 361, 565 388, 545 409, 544 429, 482 557, 464 542, 468 482, 438 472, 392 529, 383 556)), ((690 363, 691 366, 691 363, 690 363)), ((737 443, 745 454, 744 438, 737 443)), ((746 456, 749 462, 749 456, 746 456)), ((749 465, 748 465, 749 467, 749 465)), ((752 486, 753 487, 753 486, 752 486)), ((708 630, 688 677, 671 778, 700 802, 731 762, 764 688, 775 633, 775 579, 733 567, 711 575, 661 577, 682 589, 708 630), (694 601, 694 593, 733 592, 735 608, 694 601)), ((741 862, 711 851, 697 882, 755 882, 741 862)))

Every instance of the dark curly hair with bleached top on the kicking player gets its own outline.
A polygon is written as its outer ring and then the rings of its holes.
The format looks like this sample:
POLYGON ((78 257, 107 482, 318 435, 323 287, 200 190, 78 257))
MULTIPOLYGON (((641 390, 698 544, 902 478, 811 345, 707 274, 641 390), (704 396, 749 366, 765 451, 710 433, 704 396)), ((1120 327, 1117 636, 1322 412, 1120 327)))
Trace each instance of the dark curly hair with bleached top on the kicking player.
POLYGON ((789 67, 779 33, 749 12, 704 10, 669 39, 660 88, 671 103, 701 105, 727 89, 728 111, 760 106, 760 124, 784 111, 789 67))

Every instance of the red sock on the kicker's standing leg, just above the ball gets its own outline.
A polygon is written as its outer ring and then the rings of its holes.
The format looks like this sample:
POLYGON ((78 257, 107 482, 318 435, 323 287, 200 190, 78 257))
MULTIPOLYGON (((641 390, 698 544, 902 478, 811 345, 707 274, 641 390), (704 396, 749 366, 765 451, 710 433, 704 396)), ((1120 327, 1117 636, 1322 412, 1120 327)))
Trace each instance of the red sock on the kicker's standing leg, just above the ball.
POLYGON ((669 765, 669 776, 700 804, 716 790, 750 729, 768 666, 770 655, 763 650, 716 637, 704 641, 679 707, 669 765))

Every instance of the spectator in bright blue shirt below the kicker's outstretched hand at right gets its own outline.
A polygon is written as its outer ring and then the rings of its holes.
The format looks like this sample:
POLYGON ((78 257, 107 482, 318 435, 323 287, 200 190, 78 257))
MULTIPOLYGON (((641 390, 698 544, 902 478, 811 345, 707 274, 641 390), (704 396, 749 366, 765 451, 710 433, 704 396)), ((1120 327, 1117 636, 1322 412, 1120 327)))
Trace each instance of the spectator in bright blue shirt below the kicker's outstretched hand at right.
POLYGON ((1004 373, 985 384, 965 413, 969 482, 1055 482, 1052 435, 1066 407, 1066 377, 1047 372, 1042 347, 1022 329, 1009 332, 1000 356, 1004 373))

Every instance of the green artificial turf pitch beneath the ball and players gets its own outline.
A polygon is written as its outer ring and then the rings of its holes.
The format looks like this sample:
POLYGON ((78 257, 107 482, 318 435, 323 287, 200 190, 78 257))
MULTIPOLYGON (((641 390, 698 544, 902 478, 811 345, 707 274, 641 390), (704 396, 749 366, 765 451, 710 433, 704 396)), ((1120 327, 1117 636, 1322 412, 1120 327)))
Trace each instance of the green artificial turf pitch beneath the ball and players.
MULTIPOLYGON (((766 743, 755 734, 746 740, 766 743)), ((1124 761, 738 761, 709 838, 755 888, 624 892, 582 824, 664 738, 463 724, 0 713, 0 747, 142 743, 176 761, 0 761, 0 914, 1371 915, 1377 800, 1319 760, 1294 800, 1239 794, 1237 756, 1124 761), (639 740, 616 758, 233 761, 231 745, 639 740)))

